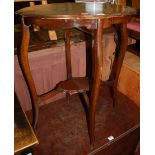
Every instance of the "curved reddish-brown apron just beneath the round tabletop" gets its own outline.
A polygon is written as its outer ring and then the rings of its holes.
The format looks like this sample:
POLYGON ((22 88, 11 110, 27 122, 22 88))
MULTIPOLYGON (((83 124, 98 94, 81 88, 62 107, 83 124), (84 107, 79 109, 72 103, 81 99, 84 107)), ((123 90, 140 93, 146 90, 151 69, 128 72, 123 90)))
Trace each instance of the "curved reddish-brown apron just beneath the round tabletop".
MULTIPOLYGON (((101 19, 101 18, 100 18, 101 19)), ((130 16, 103 18, 103 29, 111 27, 113 24, 127 23, 130 16)), ((23 17, 26 25, 38 25, 47 29, 70 29, 86 27, 87 29, 97 29, 99 19, 51 19, 40 17, 23 17)))

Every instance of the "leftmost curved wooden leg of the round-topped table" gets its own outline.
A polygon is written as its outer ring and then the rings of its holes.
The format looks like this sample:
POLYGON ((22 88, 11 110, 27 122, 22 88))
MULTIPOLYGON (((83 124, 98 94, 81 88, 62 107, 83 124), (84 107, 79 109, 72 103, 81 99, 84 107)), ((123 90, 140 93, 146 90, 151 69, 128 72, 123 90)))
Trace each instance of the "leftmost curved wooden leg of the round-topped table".
POLYGON ((32 112, 33 112, 32 126, 33 128, 35 128, 38 121, 39 99, 37 96, 34 80, 32 78, 30 66, 28 62, 29 40, 30 40, 29 26, 25 25, 24 19, 22 19, 22 42, 21 42, 21 48, 20 48, 20 53, 18 55, 18 58, 19 58, 19 63, 20 63, 22 73, 24 75, 25 81, 27 83, 27 86, 30 92, 32 112))

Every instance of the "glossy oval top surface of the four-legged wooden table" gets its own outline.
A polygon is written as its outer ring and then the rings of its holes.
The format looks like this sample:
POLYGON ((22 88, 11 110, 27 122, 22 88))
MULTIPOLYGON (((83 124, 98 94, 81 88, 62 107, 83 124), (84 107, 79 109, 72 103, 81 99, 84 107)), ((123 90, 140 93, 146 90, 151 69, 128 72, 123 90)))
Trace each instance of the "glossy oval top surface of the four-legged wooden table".
POLYGON ((120 6, 110 3, 53 3, 47 5, 35 5, 26 7, 16 12, 25 17, 41 18, 82 18, 96 19, 123 15, 133 15, 136 10, 128 6, 120 6))

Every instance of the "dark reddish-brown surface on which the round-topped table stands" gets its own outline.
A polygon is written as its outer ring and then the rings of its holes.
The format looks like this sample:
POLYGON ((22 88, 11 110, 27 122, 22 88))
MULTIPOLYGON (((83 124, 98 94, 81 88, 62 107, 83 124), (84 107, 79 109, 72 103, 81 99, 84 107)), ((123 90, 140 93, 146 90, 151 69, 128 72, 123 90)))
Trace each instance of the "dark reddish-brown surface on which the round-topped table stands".
MULTIPOLYGON (((96 110, 95 146, 89 144, 86 115, 78 95, 40 108, 35 155, 127 155, 139 141, 139 108, 118 93, 113 108, 108 87, 101 87, 96 110), (114 140, 109 141, 108 137, 114 140)), ((30 113, 28 112, 30 116, 30 113)))

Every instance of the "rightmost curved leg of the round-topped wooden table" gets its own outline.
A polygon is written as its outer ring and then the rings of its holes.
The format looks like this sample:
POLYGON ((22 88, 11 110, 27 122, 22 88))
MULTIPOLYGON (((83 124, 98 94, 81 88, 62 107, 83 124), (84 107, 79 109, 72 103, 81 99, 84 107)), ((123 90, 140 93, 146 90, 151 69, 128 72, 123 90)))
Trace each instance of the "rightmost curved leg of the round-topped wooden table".
POLYGON ((113 64, 113 70, 112 74, 110 76, 111 80, 114 80, 114 84, 111 87, 111 93, 112 93, 112 98, 113 98, 113 106, 116 105, 117 103, 117 85, 118 85, 118 79, 119 79, 119 74, 121 71, 121 67, 123 64, 126 48, 127 48, 127 27, 126 23, 122 23, 119 25, 119 31, 118 31, 118 49, 116 49, 116 57, 115 61, 113 64))

